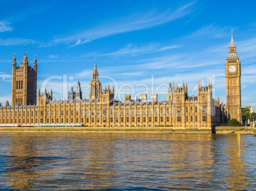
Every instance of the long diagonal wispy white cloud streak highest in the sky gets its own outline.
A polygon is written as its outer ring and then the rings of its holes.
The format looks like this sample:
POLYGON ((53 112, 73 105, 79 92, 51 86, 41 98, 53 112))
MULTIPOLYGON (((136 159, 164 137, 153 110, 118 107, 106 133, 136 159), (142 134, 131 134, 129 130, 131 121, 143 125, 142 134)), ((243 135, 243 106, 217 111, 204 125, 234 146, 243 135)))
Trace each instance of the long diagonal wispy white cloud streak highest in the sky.
POLYGON ((176 8, 174 11, 169 9, 162 11, 162 13, 157 10, 145 14, 137 13, 128 18, 122 18, 115 22, 88 29, 73 36, 56 37, 53 41, 44 46, 53 46, 56 44, 71 44, 71 46, 77 46, 78 44, 89 43, 90 41, 114 34, 155 27, 162 23, 171 22, 172 20, 188 15, 191 12, 190 7, 195 2, 196 1, 185 4, 180 8, 176 8))

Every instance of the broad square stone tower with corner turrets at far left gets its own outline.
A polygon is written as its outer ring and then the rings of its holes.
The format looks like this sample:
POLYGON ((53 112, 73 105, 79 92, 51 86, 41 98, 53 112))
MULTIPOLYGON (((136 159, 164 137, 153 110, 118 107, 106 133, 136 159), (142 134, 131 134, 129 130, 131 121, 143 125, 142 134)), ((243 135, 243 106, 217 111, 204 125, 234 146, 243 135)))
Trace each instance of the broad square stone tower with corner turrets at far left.
POLYGON ((31 67, 25 52, 24 60, 17 67, 15 54, 13 56, 11 105, 36 105, 38 63, 34 56, 31 67))

